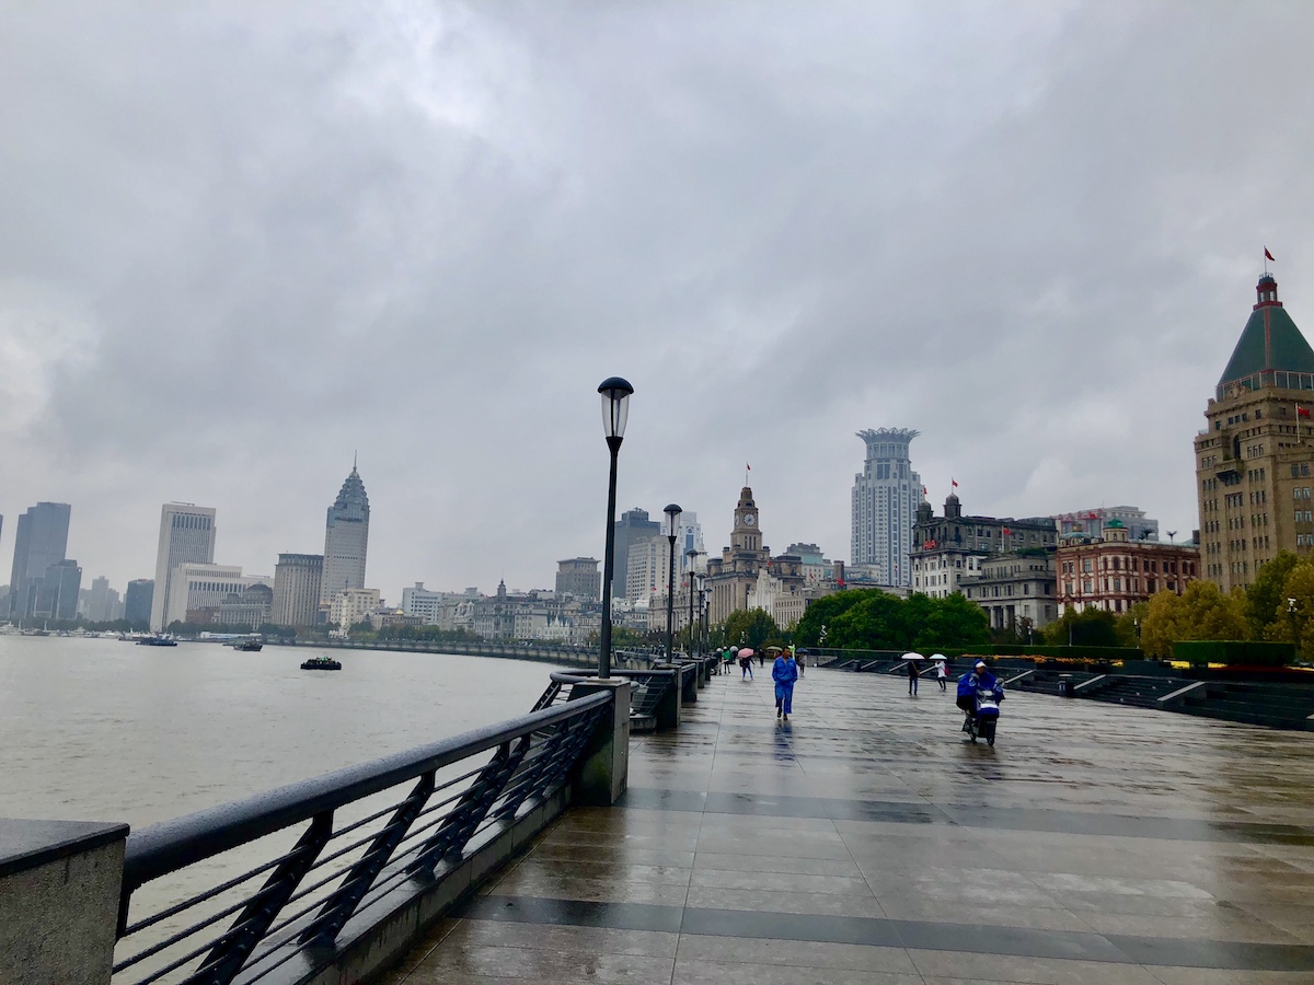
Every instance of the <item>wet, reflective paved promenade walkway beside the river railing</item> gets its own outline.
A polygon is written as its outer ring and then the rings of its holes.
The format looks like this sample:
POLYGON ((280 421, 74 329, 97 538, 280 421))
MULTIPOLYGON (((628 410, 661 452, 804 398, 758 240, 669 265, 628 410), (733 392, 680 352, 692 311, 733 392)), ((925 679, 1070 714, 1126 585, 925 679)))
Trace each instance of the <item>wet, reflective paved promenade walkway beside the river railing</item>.
POLYGON ((1314 734, 811 668, 714 678, 388 985, 1314 982, 1314 734))

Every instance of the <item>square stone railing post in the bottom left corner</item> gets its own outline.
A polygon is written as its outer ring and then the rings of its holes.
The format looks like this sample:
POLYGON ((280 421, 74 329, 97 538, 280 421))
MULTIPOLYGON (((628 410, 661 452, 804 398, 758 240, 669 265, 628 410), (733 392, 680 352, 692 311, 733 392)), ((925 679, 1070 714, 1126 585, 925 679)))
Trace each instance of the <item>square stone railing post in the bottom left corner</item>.
POLYGON ((0 820, 0 981, 108 985, 127 825, 0 820))

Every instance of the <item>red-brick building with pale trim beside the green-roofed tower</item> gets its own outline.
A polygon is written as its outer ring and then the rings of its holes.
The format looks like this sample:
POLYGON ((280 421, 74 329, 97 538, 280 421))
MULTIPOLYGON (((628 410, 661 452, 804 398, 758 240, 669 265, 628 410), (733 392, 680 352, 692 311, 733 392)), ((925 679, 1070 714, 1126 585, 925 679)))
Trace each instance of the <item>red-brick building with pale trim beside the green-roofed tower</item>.
POLYGON ((1095 608, 1117 615, 1159 591, 1181 595, 1200 578, 1200 548, 1130 540, 1121 520, 1110 520, 1102 537, 1067 536, 1054 561, 1064 612, 1095 608))

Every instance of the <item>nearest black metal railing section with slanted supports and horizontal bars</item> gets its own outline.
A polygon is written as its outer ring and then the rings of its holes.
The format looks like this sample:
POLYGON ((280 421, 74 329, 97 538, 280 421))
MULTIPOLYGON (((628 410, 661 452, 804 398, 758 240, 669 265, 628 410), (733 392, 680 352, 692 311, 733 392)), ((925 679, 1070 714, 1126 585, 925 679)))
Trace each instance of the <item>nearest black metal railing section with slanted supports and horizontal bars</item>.
POLYGON ((519 718, 133 833, 113 981, 331 963, 369 908, 442 881, 570 780, 612 695, 564 693, 553 682, 519 718))

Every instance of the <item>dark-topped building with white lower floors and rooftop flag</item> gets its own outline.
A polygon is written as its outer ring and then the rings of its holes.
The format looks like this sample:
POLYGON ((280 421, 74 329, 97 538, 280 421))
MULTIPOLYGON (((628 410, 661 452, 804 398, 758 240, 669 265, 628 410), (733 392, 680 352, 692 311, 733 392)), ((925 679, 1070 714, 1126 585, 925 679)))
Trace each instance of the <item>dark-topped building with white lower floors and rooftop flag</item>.
POLYGON ((950 492, 943 516, 933 516, 930 503, 917 507, 912 538, 913 592, 943 599, 961 591, 963 579, 980 577, 982 558, 1054 548, 1058 535, 1047 516, 964 516, 958 494, 950 492))

